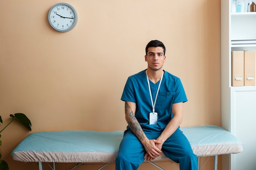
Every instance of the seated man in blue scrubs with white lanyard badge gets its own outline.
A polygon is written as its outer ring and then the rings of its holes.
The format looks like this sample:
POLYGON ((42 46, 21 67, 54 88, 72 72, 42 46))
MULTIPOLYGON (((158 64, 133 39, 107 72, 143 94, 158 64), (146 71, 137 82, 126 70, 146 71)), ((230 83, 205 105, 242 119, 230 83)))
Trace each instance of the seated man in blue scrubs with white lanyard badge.
POLYGON ((179 129, 186 94, 180 78, 162 68, 166 56, 161 41, 147 44, 145 61, 148 68, 128 77, 121 96, 128 126, 116 170, 137 170, 145 159, 152 161, 162 152, 180 163, 180 170, 198 170, 196 155, 179 129))

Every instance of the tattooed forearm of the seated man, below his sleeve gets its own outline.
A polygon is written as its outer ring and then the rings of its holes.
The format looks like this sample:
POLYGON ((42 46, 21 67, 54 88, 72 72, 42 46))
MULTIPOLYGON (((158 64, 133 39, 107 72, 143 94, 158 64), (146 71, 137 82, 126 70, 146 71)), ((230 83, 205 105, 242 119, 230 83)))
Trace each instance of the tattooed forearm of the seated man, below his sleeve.
POLYGON ((132 108, 128 105, 127 102, 125 102, 125 116, 126 121, 128 125, 130 126, 130 129, 132 129, 132 132, 135 133, 135 135, 141 140, 144 141, 144 132, 141 129, 141 126, 137 119, 135 118, 132 108))

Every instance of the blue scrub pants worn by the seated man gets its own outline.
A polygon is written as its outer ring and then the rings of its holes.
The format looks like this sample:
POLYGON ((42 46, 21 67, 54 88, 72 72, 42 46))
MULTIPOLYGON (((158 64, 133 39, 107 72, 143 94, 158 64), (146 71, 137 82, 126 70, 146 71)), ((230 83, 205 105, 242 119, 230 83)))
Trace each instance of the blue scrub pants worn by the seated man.
MULTIPOLYGON (((144 132, 148 139, 157 139, 161 132, 144 132)), ((177 129, 162 146, 166 157, 180 163, 180 170, 198 170, 197 157, 193 153, 188 139, 177 129)), ((129 130, 119 146, 116 159, 116 170, 137 170, 145 160, 146 151, 139 139, 129 130)))

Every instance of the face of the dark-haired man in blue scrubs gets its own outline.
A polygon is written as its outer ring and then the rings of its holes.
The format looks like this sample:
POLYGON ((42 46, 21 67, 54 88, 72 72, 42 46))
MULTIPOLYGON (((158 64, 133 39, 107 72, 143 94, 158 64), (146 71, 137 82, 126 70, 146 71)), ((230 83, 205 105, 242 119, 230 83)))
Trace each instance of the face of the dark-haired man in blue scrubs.
POLYGON ((148 67, 153 71, 161 69, 165 59, 166 56, 162 47, 150 47, 148 48, 147 55, 145 55, 145 61, 148 62, 148 67))

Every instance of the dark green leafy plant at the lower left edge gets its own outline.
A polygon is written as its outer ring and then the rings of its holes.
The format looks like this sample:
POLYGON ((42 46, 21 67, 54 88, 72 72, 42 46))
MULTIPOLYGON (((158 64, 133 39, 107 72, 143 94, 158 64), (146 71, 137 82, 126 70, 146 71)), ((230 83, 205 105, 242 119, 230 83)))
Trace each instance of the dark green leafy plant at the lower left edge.
MULTIPOLYGON (((10 115, 11 118, 13 118, 13 120, 18 120, 18 122, 20 122, 21 124, 23 124, 27 129, 29 129, 31 131, 31 122, 29 120, 29 118, 27 118, 27 116, 23 113, 15 113, 14 115, 10 115)), ((13 120, 11 120, 11 122, 13 122, 13 120)), ((11 122, 9 122, 1 131, 0 131, 0 138, 1 138, 1 133, 2 131, 9 126, 9 124, 11 124, 11 122)), ((0 123, 2 122, 2 118, 0 116, 0 123)), ((2 141, 0 140, 0 146, 2 145, 2 141)), ((2 157, 2 151, 0 149, 0 170, 9 170, 8 164, 6 161, 1 160, 2 157)))

